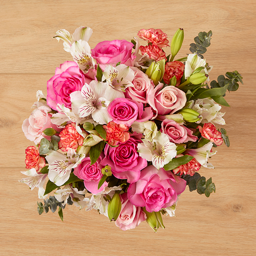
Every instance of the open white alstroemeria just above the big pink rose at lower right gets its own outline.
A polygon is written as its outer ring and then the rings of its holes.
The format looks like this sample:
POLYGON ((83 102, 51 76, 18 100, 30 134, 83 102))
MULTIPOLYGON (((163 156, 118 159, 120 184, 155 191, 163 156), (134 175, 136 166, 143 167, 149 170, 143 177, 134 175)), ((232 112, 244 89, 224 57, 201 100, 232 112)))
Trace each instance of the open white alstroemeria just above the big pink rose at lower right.
POLYGON ((142 140, 143 143, 139 143, 137 148, 140 157, 147 161, 152 161, 152 164, 160 169, 167 163, 169 163, 177 155, 177 146, 170 142, 168 136, 160 131, 157 132, 155 138, 152 141, 146 139, 142 140))

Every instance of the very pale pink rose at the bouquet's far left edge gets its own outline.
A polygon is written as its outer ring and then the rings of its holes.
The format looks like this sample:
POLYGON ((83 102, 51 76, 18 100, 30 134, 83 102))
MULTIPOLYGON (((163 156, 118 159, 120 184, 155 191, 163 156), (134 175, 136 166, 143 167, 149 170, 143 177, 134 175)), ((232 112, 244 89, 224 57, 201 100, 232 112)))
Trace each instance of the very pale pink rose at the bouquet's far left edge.
POLYGON ((30 117, 25 119, 22 124, 22 131, 26 138, 30 141, 34 141, 36 145, 40 143, 42 138, 49 138, 43 133, 43 131, 46 128, 52 128, 52 114, 48 113, 50 111, 52 111, 50 107, 44 105, 40 106, 34 109, 30 117))

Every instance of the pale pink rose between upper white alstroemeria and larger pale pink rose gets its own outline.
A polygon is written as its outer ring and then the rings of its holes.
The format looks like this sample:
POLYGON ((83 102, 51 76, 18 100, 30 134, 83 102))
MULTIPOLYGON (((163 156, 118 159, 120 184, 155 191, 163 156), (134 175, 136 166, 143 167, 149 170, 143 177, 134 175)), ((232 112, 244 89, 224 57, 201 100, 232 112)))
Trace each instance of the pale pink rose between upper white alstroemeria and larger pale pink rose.
POLYGON ((134 86, 129 86, 125 89, 125 98, 147 103, 147 97, 149 93, 154 90, 154 84, 149 77, 137 67, 130 68, 133 69, 135 74, 132 81, 134 86))

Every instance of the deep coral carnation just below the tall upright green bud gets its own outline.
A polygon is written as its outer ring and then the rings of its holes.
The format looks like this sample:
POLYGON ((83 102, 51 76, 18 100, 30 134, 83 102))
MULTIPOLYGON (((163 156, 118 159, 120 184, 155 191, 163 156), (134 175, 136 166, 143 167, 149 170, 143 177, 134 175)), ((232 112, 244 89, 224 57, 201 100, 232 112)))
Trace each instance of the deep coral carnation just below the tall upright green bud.
POLYGON ((184 67, 185 65, 179 61, 167 62, 165 64, 165 74, 163 76, 165 83, 169 84, 170 79, 176 76, 176 86, 178 86, 181 83, 181 77, 183 76, 184 67))

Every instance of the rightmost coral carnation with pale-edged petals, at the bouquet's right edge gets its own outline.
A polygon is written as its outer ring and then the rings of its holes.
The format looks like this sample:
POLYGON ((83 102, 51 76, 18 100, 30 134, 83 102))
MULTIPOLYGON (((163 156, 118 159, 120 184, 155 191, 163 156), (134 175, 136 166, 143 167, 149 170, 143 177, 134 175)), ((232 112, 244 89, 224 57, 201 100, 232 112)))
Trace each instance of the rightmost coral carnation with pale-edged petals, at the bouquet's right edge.
POLYGON ((205 139, 214 142, 217 146, 222 144, 223 139, 221 137, 221 132, 218 131, 212 123, 204 123, 203 127, 198 125, 197 128, 205 139))

